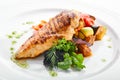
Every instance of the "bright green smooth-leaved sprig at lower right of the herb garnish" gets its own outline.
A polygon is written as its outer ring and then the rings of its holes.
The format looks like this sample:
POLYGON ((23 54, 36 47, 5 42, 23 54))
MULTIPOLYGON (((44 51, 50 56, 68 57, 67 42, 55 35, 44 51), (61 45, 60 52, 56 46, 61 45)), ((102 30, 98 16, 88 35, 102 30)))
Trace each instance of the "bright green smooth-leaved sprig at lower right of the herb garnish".
POLYGON ((82 54, 76 54, 72 52, 72 54, 69 55, 68 53, 66 53, 64 55, 64 61, 58 62, 58 67, 63 70, 67 70, 71 66, 73 66, 74 68, 80 70, 80 69, 85 68, 85 66, 83 65, 83 60, 84 58, 82 54))

